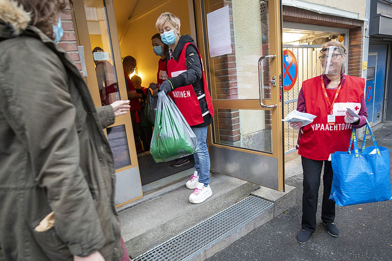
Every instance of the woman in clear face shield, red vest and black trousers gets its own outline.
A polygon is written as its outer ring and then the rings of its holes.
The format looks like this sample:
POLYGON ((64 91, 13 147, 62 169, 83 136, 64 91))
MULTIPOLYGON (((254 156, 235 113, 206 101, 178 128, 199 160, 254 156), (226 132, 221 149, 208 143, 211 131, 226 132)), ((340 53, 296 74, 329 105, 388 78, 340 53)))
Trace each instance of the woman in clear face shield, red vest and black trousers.
POLYGON ((334 224, 335 202, 329 199, 332 185, 332 166, 329 155, 335 151, 347 150, 353 127, 366 124, 368 117, 364 101, 364 79, 344 74, 346 48, 338 41, 322 46, 319 60, 323 74, 302 83, 297 111, 317 117, 312 123, 302 126, 301 122, 290 125, 300 129, 298 154, 303 169, 302 229, 297 241, 304 244, 316 230, 317 200, 321 170, 324 165, 324 194, 321 220, 327 232, 337 237, 339 230, 334 224), (347 108, 356 112, 353 117, 347 108))

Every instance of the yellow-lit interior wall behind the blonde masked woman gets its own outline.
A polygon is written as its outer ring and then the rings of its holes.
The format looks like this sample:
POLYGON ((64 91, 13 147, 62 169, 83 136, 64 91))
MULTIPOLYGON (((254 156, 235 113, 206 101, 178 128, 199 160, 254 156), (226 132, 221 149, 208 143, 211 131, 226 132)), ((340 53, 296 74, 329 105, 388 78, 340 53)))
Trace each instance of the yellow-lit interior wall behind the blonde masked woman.
POLYGON ((151 36, 158 33, 155 28, 155 21, 163 12, 171 12, 180 18, 181 35, 191 33, 188 1, 171 0, 163 2, 150 0, 137 2, 128 20, 127 28, 124 29, 123 36, 119 36, 121 37, 121 56, 130 55, 135 57, 143 87, 148 87, 151 82, 156 83, 159 57, 153 52, 151 36))

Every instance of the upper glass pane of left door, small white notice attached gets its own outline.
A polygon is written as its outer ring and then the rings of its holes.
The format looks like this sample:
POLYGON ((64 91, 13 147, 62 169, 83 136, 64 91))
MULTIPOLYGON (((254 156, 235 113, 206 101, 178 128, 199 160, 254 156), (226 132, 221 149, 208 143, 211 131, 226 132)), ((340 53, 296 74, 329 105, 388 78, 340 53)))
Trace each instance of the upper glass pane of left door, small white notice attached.
POLYGON ((120 99, 120 93, 106 7, 103 0, 95 0, 88 1, 85 10, 101 103, 109 105, 120 99))

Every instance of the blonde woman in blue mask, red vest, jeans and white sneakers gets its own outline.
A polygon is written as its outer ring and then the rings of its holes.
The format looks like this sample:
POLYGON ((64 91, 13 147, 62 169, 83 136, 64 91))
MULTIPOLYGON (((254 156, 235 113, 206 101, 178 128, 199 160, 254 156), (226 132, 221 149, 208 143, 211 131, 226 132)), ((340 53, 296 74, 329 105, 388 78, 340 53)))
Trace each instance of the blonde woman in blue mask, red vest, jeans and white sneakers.
POLYGON ((162 41, 169 45, 166 56, 168 79, 162 83, 160 90, 169 93, 197 138, 199 150, 194 154, 196 170, 186 183, 188 189, 193 189, 189 201, 197 204, 213 194, 207 147, 207 127, 214 116, 213 103, 199 50, 190 35, 180 35, 179 18, 163 13, 156 20, 155 27, 162 41))

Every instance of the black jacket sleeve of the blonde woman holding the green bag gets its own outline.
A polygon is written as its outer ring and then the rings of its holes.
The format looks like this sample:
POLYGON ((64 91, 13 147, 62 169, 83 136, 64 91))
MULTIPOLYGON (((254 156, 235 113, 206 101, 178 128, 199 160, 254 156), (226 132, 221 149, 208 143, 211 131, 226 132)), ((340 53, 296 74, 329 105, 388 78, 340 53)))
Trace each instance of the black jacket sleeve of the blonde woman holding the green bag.
POLYGON ((173 89, 187 86, 201 80, 200 59, 196 47, 193 44, 187 46, 186 63, 187 71, 169 79, 173 85, 173 89))

